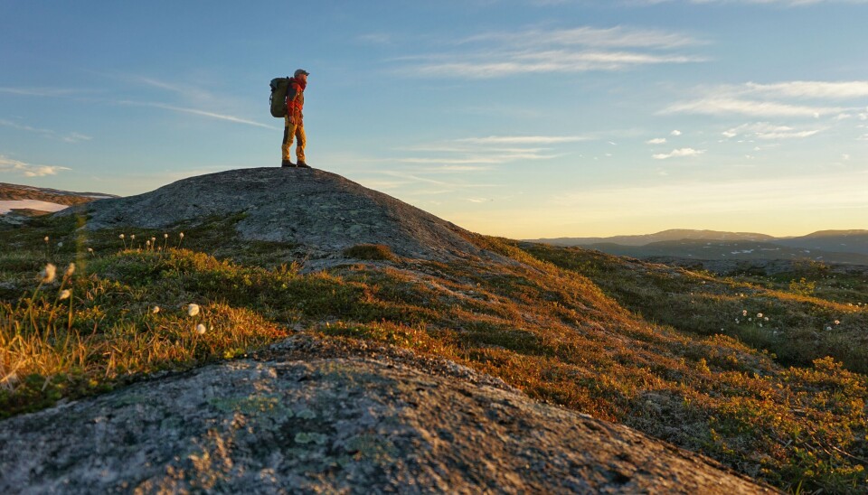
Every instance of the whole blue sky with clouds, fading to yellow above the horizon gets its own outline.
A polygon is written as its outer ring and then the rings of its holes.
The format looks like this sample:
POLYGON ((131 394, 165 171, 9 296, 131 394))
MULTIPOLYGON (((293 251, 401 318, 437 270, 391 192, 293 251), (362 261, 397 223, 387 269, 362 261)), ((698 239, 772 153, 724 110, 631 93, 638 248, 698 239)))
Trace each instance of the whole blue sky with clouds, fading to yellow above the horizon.
MULTIPOLYGON (((307 162, 508 238, 868 229, 868 0, 0 3, 0 182, 307 162)), ((287 171, 291 173, 291 171, 287 171)))

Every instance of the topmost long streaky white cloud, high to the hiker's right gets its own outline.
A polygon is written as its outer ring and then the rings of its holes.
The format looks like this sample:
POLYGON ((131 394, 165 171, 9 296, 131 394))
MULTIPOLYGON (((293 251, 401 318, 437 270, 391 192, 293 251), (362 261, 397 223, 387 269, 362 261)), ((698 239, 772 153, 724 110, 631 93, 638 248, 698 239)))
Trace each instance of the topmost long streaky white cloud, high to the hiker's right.
POLYGON ((400 73, 485 79, 526 73, 625 70, 657 64, 705 61, 671 50, 699 44, 680 33, 636 30, 572 29, 485 33, 454 43, 450 52, 402 57, 400 73))

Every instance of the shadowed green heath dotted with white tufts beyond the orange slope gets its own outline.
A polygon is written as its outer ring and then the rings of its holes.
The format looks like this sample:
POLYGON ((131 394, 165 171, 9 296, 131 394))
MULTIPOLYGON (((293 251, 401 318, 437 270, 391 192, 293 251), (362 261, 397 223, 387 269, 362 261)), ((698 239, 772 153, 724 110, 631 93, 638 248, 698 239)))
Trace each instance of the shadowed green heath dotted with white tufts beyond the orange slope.
POLYGON ((805 261, 774 275, 713 276, 647 265, 580 248, 525 245, 534 257, 589 277, 649 322, 724 334, 768 350, 783 364, 831 356, 868 373, 868 275, 805 261))

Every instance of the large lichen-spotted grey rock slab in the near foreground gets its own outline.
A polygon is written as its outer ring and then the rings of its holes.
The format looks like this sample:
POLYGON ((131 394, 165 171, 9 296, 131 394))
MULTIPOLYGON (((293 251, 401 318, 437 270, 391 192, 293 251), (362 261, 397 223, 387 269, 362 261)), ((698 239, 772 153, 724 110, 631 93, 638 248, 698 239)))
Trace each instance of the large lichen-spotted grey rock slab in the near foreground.
POLYGON ((773 491, 449 361, 435 372, 376 353, 299 357, 5 420, 0 492, 773 491))

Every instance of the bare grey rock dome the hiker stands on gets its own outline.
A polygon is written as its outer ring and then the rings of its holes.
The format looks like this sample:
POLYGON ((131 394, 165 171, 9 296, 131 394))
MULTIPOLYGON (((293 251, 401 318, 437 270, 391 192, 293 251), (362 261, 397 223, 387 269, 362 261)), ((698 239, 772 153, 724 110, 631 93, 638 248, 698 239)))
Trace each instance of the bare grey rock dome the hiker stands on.
POLYGON ((240 215, 241 238, 291 242, 316 251, 382 244, 401 257, 448 260, 483 251, 467 231, 387 194, 315 169, 251 168, 173 182, 77 210, 87 229, 161 229, 240 215))

